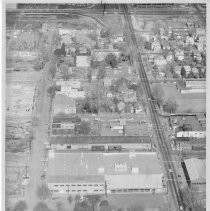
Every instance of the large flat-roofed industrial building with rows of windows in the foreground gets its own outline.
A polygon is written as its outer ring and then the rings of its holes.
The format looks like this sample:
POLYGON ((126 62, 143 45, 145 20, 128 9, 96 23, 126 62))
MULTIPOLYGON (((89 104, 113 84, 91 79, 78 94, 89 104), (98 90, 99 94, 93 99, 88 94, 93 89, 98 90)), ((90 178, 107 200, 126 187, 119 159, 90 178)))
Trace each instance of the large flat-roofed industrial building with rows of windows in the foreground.
POLYGON ((48 187, 53 194, 161 193, 163 174, 155 152, 50 150, 48 187))

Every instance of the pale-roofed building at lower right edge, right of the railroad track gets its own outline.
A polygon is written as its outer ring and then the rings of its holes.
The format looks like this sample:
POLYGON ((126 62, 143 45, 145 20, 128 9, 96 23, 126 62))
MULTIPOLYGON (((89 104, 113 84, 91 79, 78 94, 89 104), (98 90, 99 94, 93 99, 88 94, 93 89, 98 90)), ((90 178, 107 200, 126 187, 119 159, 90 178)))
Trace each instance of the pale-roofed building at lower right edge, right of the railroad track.
MULTIPOLYGON (((184 160, 187 170, 188 184, 190 185, 206 185, 206 160, 190 158, 184 160)), ((186 174, 186 173, 185 173, 186 174)))

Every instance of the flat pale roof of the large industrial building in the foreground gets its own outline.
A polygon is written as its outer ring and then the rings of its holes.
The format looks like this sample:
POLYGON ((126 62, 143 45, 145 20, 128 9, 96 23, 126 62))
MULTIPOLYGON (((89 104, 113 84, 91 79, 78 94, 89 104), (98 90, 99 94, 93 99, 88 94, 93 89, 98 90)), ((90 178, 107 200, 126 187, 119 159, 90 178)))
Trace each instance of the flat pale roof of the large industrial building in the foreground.
POLYGON ((51 183, 88 182, 93 178, 96 180, 103 178, 103 180, 109 181, 113 188, 122 187, 122 181, 125 182, 124 188, 135 188, 135 183, 143 188, 157 188, 162 185, 162 172, 155 152, 78 153, 55 151, 49 158, 47 175, 48 182, 51 183), (116 169, 116 165, 119 169, 116 169), (135 173, 132 172, 134 168, 138 169, 135 173), (99 169, 103 169, 103 171, 99 169), (81 180, 81 178, 83 179, 81 180), (130 183, 132 185, 128 185, 130 183))

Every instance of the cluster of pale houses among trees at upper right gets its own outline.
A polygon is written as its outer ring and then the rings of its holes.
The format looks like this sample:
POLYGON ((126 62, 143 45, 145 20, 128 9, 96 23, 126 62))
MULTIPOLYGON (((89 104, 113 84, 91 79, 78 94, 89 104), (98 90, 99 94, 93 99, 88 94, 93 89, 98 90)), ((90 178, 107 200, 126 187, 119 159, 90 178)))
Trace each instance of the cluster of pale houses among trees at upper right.
MULTIPOLYGON (((203 28, 196 28, 195 33, 192 34, 190 33, 191 28, 192 25, 187 24, 187 27, 184 28, 169 27, 168 30, 160 28, 160 35, 152 36, 147 33, 142 35, 150 44, 151 50, 149 51, 148 60, 158 67, 160 75, 165 75, 162 69, 172 61, 186 63, 186 77, 189 76, 189 73, 200 77, 198 67, 201 71, 205 71, 204 66, 201 65, 201 55, 205 55, 206 51, 206 31, 203 28), (153 41, 151 42, 151 40, 153 41), (166 51, 167 54, 163 55, 163 51, 166 51), (195 61, 195 64, 187 64, 189 57, 195 61)), ((175 73, 181 76, 179 65, 175 68, 175 73)))

